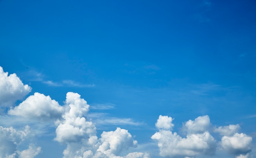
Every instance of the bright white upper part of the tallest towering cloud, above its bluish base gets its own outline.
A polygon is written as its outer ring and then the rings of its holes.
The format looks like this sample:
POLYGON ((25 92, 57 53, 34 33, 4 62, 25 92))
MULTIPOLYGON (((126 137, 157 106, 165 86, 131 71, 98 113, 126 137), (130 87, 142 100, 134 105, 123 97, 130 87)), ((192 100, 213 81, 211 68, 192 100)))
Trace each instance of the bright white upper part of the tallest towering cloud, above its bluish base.
POLYGON ((76 142, 82 138, 90 138, 96 134, 92 122, 83 116, 89 111, 89 105, 78 93, 68 92, 66 96, 66 112, 62 120, 56 121, 56 138, 58 142, 76 142))

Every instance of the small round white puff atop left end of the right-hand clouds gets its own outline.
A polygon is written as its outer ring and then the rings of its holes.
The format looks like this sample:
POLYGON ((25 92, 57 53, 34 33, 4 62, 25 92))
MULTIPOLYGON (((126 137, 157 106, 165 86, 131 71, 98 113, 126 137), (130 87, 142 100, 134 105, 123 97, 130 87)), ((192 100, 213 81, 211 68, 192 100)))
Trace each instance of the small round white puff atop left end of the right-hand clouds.
POLYGON ((157 127, 158 129, 172 129, 172 127, 174 126, 172 124, 172 121, 173 118, 160 115, 155 124, 155 127, 157 127))

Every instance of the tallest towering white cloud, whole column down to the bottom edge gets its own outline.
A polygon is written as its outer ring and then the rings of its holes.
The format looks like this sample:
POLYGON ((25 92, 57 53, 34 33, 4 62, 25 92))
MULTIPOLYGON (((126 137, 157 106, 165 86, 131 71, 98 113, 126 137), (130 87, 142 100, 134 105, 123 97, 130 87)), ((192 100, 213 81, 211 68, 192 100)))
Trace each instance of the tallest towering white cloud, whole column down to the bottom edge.
POLYGON ((93 147, 98 139, 95 126, 83 117, 89 111, 89 105, 80 97, 78 93, 68 92, 65 113, 55 122, 58 127, 54 140, 67 144, 63 151, 67 158, 82 155, 88 150, 86 147, 93 147))

